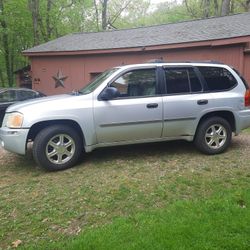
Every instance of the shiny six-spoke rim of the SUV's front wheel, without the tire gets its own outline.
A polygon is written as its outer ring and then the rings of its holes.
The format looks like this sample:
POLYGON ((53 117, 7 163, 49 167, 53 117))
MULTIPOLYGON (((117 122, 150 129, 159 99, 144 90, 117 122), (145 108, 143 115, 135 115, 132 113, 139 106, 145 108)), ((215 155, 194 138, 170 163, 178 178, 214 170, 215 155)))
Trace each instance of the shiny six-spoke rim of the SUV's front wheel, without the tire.
POLYGON ((75 153, 75 142, 66 134, 53 136, 46 145, 46 157, 53 164, 64 164, 75 153))

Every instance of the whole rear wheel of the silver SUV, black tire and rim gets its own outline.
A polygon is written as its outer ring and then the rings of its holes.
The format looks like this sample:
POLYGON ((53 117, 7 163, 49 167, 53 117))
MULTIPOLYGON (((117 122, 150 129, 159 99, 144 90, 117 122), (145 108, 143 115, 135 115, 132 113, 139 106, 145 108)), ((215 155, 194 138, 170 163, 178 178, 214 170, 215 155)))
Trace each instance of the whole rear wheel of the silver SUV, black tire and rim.
POLYGON ((195 146, 205 154, 220 154, 230 145, 232 128, 222 117, 210 117, 202 121, 197 128, 195 146))

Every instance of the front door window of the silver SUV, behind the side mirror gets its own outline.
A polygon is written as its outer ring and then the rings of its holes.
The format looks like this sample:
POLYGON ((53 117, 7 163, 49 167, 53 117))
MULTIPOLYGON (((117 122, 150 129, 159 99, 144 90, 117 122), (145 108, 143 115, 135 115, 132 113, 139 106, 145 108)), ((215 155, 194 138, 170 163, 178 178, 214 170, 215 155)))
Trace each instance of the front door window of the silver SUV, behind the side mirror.
POLYGON ((139 69, 125 73, 110 84, 120 97, 143 97, 156 94, 155 69, 139 69))

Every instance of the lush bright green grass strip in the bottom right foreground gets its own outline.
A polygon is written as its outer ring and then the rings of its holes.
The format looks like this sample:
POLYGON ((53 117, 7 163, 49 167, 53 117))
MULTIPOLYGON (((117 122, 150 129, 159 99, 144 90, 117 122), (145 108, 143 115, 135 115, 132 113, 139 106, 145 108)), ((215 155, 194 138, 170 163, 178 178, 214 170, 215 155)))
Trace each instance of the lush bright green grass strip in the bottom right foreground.
POLYGON ((234 192, 225 192, 200 201, 174 202, 165 209, 115 219, 68 242, 43 244, 39 249, 248 250, 249 191, 240 200, 234 192))

